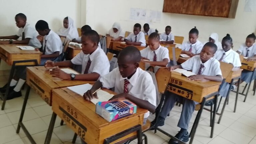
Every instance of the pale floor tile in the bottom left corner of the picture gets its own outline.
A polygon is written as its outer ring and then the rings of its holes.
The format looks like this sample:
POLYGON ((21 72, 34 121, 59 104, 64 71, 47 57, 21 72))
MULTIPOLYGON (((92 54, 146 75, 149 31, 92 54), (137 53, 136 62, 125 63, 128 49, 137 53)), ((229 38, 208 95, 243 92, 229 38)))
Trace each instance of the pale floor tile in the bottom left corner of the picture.
POLYGON ((10 125, 0 128, 0 143, 10 142, 16 139, 20 139, 19 135, 16 134, 15 128, 10 125))

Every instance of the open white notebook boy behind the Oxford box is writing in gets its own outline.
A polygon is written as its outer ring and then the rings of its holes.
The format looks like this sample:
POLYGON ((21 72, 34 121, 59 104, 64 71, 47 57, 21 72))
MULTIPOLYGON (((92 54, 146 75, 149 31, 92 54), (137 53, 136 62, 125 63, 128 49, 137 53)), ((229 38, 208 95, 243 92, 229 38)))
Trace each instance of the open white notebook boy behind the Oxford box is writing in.
MULTIPOLYGON (((90 90, 92 88, 92 85, 90 84, 83 84, 83 85, 77 85, 77 86, 71 86, 71 87, 67 87, 69 90, 79 94, 80 96, 83 96, 85 92, 87 92, 88 90, 90 90)), ((93 104, 97 104, 99 101, 104 102, 104 101, 108 101, 109 99, 111 99, 114 95, 110 94, 108 92, 105 92, 103 90, 98 90, 97 92, 97 96, 98 99, 92 99, 91 102, 93 104)))

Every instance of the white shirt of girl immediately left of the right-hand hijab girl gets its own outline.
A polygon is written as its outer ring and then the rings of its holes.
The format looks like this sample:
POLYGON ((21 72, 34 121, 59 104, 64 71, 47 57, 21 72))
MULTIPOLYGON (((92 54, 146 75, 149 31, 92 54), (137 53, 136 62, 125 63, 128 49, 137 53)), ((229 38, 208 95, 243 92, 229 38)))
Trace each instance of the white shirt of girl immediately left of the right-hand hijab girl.
POLYGON ((181 50, 184 50, 184 51, 189 51, 191 45, 192 45, 191 52, 193 54, 199 54, 204 46, 199 40, 196 40, 196 43, 194 43, 194 44, 191 44, 189 41, 186 41, 186 42, 182 43, 181 45, 179 45, 178 48, 180 48, 181 50))

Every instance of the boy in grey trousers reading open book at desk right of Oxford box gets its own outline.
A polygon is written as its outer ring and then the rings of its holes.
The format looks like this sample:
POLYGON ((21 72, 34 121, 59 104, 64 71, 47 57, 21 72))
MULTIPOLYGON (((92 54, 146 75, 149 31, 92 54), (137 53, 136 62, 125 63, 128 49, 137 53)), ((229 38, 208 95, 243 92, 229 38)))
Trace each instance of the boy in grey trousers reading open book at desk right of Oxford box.
MULTIPOLYGON (((192 58, 188 59, 186 62, 182 63, 181 65, 171 66, 169 69, 174 70, 177 68, 183 68, 185 70, 191 70, 193 73, 197 75, 189 76, 189 80, 203 80, 207 79, 210 81, 222 81, 222 73, 220 70, 220 63, 215 58, 214 53, 217 51, 217 46, 214 43, 208 42, 204 45, 200 55, 193 56, 192 58)), ((165 102, 162 107, 162 110, 159 114, 159 119, 156 123, 156 126, 163 126, 164 120, 173 108, 176 101, 182 101, 183 107, 180 116, 180 120, 178 123, 178 127, 181 130, 178 134, 175 135, 176 138, 180 139, 183 142, 188 142, 189 134, 188 134, 188 124, 191 119, 192 113, 195 110, 195 102, 189 100, 187 98, 181 97, 177 94, 170 93, 169 96, 165 97, 165 102)), ((154 120, 152 124, 155 124, 154 120)), ((169 144, 176 144, 177 141, 170 139, 169 144)))

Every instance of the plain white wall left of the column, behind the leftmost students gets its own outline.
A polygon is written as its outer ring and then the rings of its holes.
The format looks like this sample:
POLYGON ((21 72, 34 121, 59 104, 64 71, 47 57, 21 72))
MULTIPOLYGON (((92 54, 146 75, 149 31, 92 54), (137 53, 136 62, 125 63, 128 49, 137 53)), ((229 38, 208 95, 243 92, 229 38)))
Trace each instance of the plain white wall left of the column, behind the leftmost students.
MULTIPOLYGON (((49 28, 58 31, 63 19, 70 16, 76 26, 80 26, 80 0, 0 0, 0 35, 15 35, 18 27, 14 17, 18 13, 27 16, 27 22, 35 26, 40 19, 49 24, 49 28)), ((0 70, 9 69, 1 62, 0 70)))

